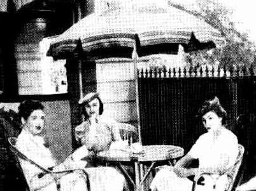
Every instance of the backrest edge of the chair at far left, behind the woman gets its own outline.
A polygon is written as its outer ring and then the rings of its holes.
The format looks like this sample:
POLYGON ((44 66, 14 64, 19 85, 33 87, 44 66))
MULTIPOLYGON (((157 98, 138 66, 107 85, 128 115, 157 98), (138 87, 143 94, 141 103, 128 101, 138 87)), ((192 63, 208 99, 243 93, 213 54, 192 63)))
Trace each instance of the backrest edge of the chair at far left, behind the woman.
POLYGON ((14 158, 15 158, 16 167, 18 168, 18 171, 19 171, 20 175, 22 175, 22 177, 20 177, 21 178, 20 181, 25 183, 25 191, 29 191, 30 190, 29 185, 27 184, 27 180, 25 180, 25 175, 24 175, 23 170, 20 166, 20 161, 18 160, 17 149, 15 148, 16 141, 17 141, 16 137, 9 137, 8 138, 8 142, 10 144, 10 150, 13 153, 14 158))

